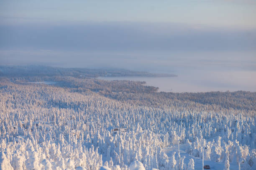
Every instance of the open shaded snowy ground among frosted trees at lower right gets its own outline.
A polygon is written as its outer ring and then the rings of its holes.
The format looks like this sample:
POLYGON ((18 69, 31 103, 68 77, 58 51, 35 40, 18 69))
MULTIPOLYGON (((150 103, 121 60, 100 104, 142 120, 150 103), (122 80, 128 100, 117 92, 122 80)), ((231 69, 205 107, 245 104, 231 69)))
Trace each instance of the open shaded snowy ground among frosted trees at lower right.
MULTIPOLYGON (((164 149, 164 152, 168 156, 168 159, 171 159, 171 156, 174 152, 176 152, 176 156, 178 155, 178 152, 181 157, 185 156, 184 159, 184 164, 188 165, 189 160, 192 158, 195 163, 195 170, 202 170, 202 159, 197 158, 193 155, 189 155, 188 153, 185 152, 186 144, 180 144, 179 147, 178 145, 172 145, 169 147, 166 147, 164 149)), ((218 162, 213 162, 211 160, 204 160, 204 165, 210 165, 211 170, 224 170, 225 169, 225 163, 218 163, 218 162)), ((237 164, 230 164, 230 170, 238 170, 238 165, 237 164)))

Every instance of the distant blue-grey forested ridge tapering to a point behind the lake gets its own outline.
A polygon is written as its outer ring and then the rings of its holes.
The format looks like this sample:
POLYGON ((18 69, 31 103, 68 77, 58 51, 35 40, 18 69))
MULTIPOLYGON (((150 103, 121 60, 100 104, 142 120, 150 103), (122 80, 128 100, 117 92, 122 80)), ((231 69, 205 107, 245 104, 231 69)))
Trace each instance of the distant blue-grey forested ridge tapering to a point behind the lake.
POLYGON ((119 69, 88 69, 61 68, 41 65, 0 66, 0 76, 73 76, 73 77, 176 77, 173 74, 153 74, 149 72, 119 70, 119 69))

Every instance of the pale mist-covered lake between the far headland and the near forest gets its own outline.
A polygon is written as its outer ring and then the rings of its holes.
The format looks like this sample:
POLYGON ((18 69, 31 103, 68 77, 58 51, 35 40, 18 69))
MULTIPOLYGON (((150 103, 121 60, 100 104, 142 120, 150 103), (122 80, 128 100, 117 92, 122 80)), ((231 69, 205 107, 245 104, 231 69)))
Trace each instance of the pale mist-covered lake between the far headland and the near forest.
POLYGON ((178 77, 98 77, 101 80, 145 81, 146 85, 159 87, 159 92, 209 92, 251 91, 256 92, 256 72, 191 71, 178 77))

